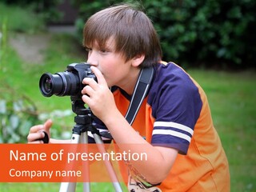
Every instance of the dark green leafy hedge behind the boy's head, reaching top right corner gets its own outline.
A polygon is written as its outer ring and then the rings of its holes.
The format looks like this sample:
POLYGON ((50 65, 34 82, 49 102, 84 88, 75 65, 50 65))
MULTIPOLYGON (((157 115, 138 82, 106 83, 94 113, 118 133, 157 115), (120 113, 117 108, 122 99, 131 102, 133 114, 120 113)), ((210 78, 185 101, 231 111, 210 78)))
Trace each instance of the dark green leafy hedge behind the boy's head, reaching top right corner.
MULTIPOLYGON (((81 18, 122 1, 74 1, 81 18)), ((255 1, 143 0, 162 42, 164 60, 187 66, 255 67, 255 1), (204 64, 207 63, 207 64, 204 64)))

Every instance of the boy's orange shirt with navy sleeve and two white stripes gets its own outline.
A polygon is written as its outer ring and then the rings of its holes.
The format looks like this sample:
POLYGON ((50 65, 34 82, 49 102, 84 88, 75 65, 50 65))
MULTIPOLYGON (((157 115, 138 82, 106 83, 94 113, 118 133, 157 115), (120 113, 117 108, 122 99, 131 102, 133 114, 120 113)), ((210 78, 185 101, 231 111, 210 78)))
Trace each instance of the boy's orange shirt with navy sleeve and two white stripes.
MULTIPOLYGON (((179 154, 158 190, 145 191, 230 191, 229 166, 206 94, 172 62, 154 70, 149 94, 132 126, 152 145, 173 147, 179 154)), ((119 89, 113 94, 125 115, 129 96, 119 89)))

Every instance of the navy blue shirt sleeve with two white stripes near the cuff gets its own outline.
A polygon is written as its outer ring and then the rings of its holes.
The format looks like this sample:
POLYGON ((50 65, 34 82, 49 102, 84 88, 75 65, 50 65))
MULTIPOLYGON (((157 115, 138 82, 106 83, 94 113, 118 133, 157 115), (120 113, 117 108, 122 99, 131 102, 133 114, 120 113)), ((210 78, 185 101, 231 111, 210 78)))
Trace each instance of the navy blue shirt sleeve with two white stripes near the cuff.
POLYGON ((190 76, 174 63, 160 65, 148 103, 155 118, 151 143, 186 154, 202 109, 198 87, 190 76))

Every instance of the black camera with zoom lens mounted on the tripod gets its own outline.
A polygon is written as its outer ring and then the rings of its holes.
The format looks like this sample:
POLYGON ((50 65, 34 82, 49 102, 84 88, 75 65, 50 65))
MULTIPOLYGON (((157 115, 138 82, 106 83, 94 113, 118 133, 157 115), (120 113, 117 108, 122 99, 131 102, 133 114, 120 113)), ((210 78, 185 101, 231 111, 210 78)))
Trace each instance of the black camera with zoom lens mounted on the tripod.
POLYGON ((72 63, 66 67, 66 71, 56 74, 42 74, 39 81, 39 88, 45 97, 57 96, 78 96, 81 94, 83 78, 93 78, 96 76, 90 70, 90 64, 86 62, 72 63))

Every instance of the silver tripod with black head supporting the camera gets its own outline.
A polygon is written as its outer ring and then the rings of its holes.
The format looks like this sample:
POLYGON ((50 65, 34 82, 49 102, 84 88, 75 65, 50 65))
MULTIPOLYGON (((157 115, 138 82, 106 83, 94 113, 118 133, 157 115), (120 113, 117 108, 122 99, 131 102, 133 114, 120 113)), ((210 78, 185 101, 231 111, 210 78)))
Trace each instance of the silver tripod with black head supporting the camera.
MULTIPOLYGON (((84 106, 81 97, 71 96, 72 110, 77 116, 74 118, 76 125, 72 130, 71 143, 88 143, 88 131, 94 135, 94 140, 98 146, 100 153, 106 153, 105 147, 102 145, 102 138, 99 136, 99 132, 93 125, 93 114, 89 108, 84 106)), ((106 170, 110 175, 110 179, 116 192, 122 192, 122 187, 118 181, 118 177, 114 172, 114 168, 110 161, 104 161, 106 170)), ((86 163, 86 178, 89 178, 89 165, 86 163)), ((86 180, 87 181, 87 180, 86 180)), ((76 182, 62 182, 59 192, 74 192, 76 188, 76 182)), ((90 182, 83 183, 83 191, 90 191, 90 182)))

